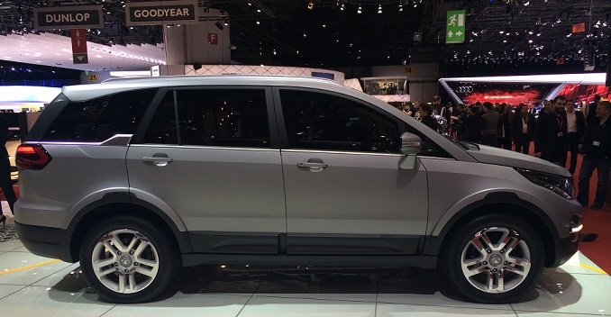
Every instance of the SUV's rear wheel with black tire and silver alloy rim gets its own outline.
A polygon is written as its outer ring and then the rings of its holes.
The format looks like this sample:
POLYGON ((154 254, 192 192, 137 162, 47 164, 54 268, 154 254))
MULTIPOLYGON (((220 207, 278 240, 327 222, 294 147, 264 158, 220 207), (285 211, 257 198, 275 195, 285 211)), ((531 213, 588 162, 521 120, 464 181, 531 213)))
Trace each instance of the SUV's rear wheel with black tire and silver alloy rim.
POLYGON ((113 303, 149 302, 179 267, 178 247, 152 222, 118 216, 96 224, 83 240, 80 265, 87 284, 113 303))

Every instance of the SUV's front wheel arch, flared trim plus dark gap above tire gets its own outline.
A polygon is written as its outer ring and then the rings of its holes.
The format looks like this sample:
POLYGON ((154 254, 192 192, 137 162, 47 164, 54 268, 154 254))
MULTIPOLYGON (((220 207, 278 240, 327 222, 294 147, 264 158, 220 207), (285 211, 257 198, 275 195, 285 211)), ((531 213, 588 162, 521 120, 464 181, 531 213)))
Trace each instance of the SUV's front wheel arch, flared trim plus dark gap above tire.
POLYGON ((424 254, 439 255, 448 239, 451 238, 453 231, 456 231, 465 222, 490 213, 490 211, 518 216, 532 224, 533 229, 543 241, 545 267, 552 267, 556 263, 556 256, 560 252, 560 246, 556 241, 560 240, 560 237, 558 232, 553 230, 555 226, 552 220, 541 208, 524 201, 515 193, 490 193, 484 199, 463 207, 444 224, 439 235, 427 237, 424 243, 424 254))

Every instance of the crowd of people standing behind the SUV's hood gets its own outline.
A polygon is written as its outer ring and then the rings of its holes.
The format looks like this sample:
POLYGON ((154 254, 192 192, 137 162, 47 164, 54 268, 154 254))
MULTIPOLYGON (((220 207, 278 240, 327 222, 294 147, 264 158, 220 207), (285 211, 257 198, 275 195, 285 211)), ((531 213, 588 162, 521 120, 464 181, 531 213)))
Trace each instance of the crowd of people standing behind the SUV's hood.
MULTIPOLYGON (((534 143, 533 156, 565 167, 571 175, 578 177, 579 204, 594 210, 602 209, 611 170, 611 102, 595 95, 588 105, 587 115, 576 110, 575 102, 563 95, 544 100, 542 104, 541 111, 533 113, 528 104, 514 107, 484 102, 454 107, 451 103, 442 105, 439 96, 435 96, 432 104, 409 103, 403 110, 457 140, 524 154, 531 154, 531 144, 534 143), (578 171, 579 153, 583 159, 578 171), (590 205, 589 182, 595 169, 597 188, 594 202, 590 205)), ((596 239, 596 235, 590 235, 588 239, 596 239)))

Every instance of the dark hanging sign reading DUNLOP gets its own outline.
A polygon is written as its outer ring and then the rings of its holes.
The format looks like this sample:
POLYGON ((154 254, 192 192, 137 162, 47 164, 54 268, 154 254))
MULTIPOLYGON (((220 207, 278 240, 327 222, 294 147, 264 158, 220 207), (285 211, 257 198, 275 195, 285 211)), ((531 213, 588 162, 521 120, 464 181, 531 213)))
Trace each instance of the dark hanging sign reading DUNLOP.
POLYGON ((104 29, 102 5, 34 8, 34 28, 36 30, 104 29))

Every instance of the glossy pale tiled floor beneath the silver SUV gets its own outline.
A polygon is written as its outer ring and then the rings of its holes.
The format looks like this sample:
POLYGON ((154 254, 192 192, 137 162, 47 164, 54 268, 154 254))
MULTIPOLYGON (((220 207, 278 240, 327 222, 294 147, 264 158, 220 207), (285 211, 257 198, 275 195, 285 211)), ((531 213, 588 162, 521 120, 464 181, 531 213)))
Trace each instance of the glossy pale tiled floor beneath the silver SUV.
POLYGON ((155 303, 114 304, 88 290, 78 263, 32 255, 0 233, 3 316, 583 316, 611 314, 611 277, 578 253, 546 270, 521 303, 455 299, 435 271, 411 267, 189 267, 155 303))

